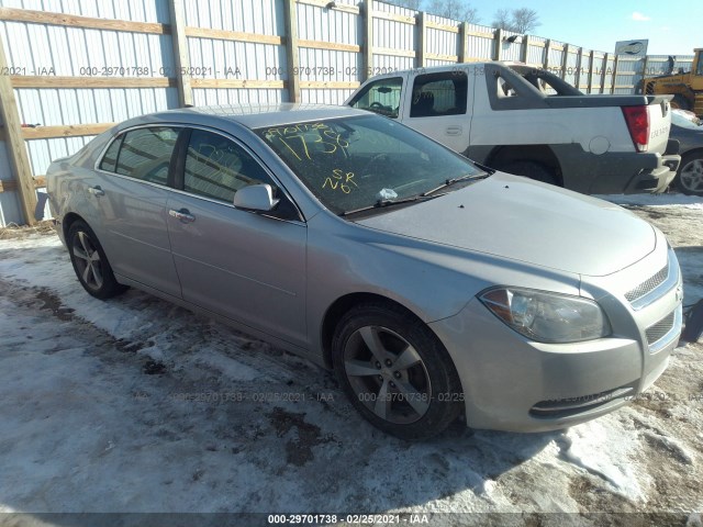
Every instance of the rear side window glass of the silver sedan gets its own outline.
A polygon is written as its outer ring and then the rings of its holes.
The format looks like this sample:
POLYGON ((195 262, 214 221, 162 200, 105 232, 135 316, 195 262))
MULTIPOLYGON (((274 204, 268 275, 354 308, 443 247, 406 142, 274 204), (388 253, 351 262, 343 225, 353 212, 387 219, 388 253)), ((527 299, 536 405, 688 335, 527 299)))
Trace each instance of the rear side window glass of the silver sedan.
MULTIPOLYGON (((176 146, 179 128, 153 126, 132 130, 124 134, 116 156, 115 172, 142 181, 167 184, 168 168, 176 146)), ((109 167, 110 150, 119 143, 115 141, 101 162, 109 167)), ((109 170, 109 168, 105 168, 109 170)))

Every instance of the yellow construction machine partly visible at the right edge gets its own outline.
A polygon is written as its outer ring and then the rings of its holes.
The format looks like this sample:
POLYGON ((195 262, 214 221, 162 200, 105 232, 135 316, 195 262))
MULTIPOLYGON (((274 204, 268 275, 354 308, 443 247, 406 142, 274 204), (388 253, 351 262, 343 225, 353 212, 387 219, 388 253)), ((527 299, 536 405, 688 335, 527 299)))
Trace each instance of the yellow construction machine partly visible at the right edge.
POLYGON ((645 78, 644 92, 650 96, 673 94, 671 108, 690 110, 703 116, 703 47, 694 49, 691 71, 645 78))

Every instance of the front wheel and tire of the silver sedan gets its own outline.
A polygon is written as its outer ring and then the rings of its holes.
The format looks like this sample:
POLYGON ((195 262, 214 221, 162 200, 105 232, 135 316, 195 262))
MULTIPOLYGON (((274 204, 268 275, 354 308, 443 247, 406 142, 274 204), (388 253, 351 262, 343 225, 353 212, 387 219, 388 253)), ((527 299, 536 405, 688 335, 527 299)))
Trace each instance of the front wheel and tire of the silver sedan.
POLYGON ((395 437, 433 437, 464 408, 449 354, 423 322, 400 306, 372 302, 348 311, 335 329, 332 352, 352 404, 395 437))

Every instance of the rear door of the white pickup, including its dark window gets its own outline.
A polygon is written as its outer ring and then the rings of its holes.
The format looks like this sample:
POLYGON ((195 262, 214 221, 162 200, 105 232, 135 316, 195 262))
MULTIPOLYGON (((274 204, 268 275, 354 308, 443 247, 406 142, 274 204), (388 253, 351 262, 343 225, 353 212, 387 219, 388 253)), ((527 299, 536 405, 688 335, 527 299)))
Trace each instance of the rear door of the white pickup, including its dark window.
POLYGON ((464 153, 469 146, 473 76, 457 68, 409 78, 403 124, 438 141, 455 152, 464 153))

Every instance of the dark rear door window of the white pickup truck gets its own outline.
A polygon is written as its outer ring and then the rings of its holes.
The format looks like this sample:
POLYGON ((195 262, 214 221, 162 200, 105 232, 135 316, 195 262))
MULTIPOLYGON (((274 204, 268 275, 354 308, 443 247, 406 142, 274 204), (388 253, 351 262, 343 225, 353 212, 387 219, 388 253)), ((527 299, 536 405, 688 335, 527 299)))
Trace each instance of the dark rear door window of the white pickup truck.
POLYGON ((419 75, 413 85, 410 116, 465 114, 468 83, 466 71, 419 75))

